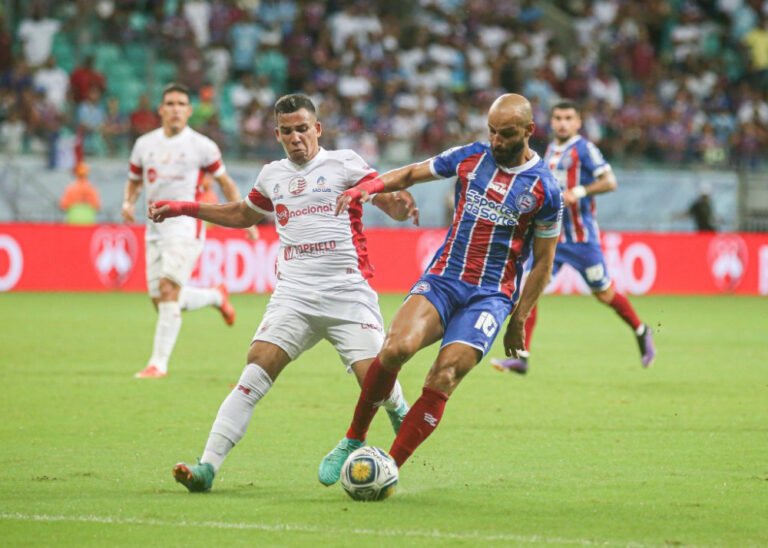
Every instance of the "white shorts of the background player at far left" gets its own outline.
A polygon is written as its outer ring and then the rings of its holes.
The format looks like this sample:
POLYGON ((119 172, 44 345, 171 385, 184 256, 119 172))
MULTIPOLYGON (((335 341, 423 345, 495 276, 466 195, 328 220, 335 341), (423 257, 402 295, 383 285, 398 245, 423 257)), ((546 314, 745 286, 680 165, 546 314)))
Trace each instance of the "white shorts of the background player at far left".
POLYGON ((150 297, 160 296, 160 278, 184 286, 203 251, 201 240, 165 238, 146 242, 147 289, 150 297))

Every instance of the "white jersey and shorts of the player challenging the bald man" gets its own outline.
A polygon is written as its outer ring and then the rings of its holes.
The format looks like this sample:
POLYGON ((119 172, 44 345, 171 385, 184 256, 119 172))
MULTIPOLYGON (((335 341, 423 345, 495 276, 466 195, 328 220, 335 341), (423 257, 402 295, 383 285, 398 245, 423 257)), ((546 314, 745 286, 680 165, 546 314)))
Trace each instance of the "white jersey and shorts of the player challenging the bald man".
POLYGON ((277 284, 255 340, 295 358, 328 339, 342 361, 373 358, 383 342, 378 297, 363 234, 362 204, 335 215, 336 198, 377 176, 351 150, 320 149, 304 165, 264 166, 245 203, 274 213, 280 248, 277 284))

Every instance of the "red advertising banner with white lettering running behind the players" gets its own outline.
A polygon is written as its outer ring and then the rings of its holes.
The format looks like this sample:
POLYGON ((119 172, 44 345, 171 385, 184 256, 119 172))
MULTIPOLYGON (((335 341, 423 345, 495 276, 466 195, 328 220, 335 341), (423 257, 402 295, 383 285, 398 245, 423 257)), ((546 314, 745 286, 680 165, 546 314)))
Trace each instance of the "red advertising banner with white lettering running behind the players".
MULTIPOLYGON (((369 229, 371 284, 405 292, 442 244, 443 229, 369 229)), ((603 234, 608 269, 631 294, 768 295, 768 234, 603 234)), ((191 283, 225 283, 232 292, 274 288, 279 242, 262 227, 251 242, 240 230, 208 231, 191 283)), ((0 224, 0 291, 145 291, 143 227, 0 224)), ((586 293, 563 268, 548 292, 586 293)))

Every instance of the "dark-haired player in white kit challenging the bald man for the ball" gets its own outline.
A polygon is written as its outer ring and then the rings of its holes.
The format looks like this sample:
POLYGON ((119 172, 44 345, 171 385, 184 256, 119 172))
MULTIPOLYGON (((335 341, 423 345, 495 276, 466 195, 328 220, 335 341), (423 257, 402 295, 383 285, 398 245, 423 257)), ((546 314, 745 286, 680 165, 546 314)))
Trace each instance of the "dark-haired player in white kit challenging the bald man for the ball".
MULTIPOLYGON (((315 106, 305 95, 287 95, 275 104, 275 137, 286 159, 264 166, 245 200, 222 205, 160 201, 150 204, 155 222, 187 215, 229 227, 250 226, 274 212, 280 250, 277 285, 248 351, 237 386, 219 408, 197 465, 177 464, 176 481, 190 491, 207 491, 224 458, 245 434, 253 408, 288 363, 321 339, 362 384, 384 340, 372 276, 362 205, 336 216, 336 198, 377 177, 351 150, 324 150, 315 106)), ((418 209, 407 192, 381 195, 374 204, 394 219, 412 218, 418 209)), ((408 412, 395 385, 381 402, 397 432, 408 412)))

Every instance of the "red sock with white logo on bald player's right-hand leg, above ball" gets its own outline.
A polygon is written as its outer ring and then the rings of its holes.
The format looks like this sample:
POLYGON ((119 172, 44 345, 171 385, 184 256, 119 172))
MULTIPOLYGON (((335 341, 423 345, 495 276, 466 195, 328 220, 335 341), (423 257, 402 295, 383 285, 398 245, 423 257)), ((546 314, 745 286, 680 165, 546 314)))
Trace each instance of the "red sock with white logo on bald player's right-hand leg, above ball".
MULTIPOLYGON (((367 377, 366 380, 368 380, 367 377)), ((400 425, 400 433, 389 450, 398 468, 437 428, 447 401, 448 394, 426 387, 422 390, 421 397, 416 400, 405 416, 403 424, 400 425)))

